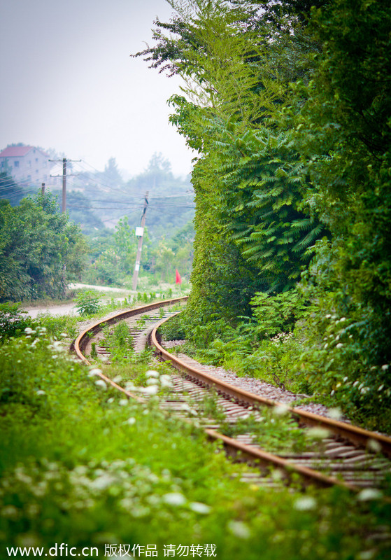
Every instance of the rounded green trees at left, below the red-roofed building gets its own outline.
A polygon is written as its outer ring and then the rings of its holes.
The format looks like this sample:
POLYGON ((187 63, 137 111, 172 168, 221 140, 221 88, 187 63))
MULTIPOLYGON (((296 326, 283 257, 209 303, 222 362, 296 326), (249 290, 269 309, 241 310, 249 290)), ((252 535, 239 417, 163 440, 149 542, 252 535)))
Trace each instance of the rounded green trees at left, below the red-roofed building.
POLYGON ((64 297, 83 267, 85 241, 51 195, 0 201, 0 301, 64 297))

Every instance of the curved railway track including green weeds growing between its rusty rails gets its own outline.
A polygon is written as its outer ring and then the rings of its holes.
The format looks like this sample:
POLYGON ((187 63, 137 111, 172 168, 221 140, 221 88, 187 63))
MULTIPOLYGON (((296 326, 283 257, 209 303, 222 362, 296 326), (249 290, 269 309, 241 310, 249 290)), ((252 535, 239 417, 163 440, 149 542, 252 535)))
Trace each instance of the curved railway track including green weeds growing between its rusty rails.
MULTIPOLYGON (((126 320, 135 351, 151 344, 157 358, 169 361, 179 372, 171 374, 171 386, 164 391, 160 406, 185 421, 197 423, 239 461, 257 465, 260 474, 242 475, 247 482, 278 486, 281 480, 300 479, 304 485, 336 484, 352 491, 381 488, 385 476, 391 474, 390 437, 292 407, 287 404, 292 397, 277 400, 262 391, 248 391, 247 378, 227 383, 224 373, 216 372, 216 368, 164 349, 157 329, 175 314, 167 308, 185 300, 181 297, 148 304, 94 323, 76 339, 75 351, 89 363, 86 355, 95 344, 98 353, 109 357, 110 349, 99 346, 102 327, 126 320), (162 310, 157 317, 159 308, 162 310)), ((103 374, 100 377, 129 398, 145 400, 103 374)))

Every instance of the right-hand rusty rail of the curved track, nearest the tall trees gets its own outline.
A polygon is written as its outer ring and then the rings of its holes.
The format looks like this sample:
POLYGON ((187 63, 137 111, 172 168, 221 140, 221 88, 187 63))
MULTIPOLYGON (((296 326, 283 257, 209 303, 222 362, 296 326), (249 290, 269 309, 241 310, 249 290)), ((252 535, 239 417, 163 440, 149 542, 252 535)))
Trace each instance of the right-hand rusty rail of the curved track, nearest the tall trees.
POLYGON ((293 414, 300 423, 304 423, 307 426, 320 426, 329 430, 329 432, 334 433, 335 435, 339 435, 344 439, 352 442, 355 445, 363 445, 364 447, 367 446, 370 440, 375 440, 381 446, 381 451, 383 454, 391 456, 391 437, 386 435, 371 432, 369 430, 364 430, 364 428, 359 428, 358 426, 353 426, 352 424, 348 424, 346 422, 337 421, 331 418, 327 418, 326 416, 320 416, 319 414, 314 414, 313 412, 307 412, 306 410, 301 410, 297 407, 287 407, 287 405, 282 404, 281 402, 270 400, 264 397, 260 397, 259 395, 255 395, 253 393, 249 393, 248 391, 244 391, 243 389, 236 388, 225 381, 221 381, 220 379, 216 379, 212 375, 206 374, 201 372, 194 367, 187 365, 180 360, 173 354, 166 351, 163 346, 159 343, 157 339, 157 329, 161 326, 165 321, 168 321, 168 318, 159 321, 156 325, 155 329, 152 330, 150 339, 152 344, 155 346, 157 353, 159 354, 160 358, 164 360, 169 360, 177 370, 184 372, 185 374, 197 379, 207 386, 217 388, 220 393, 225 395, 229 395, 229 397, 234 398, 236 401, 243 402, 249 406, 268 406, 268 407, 278 407, 283 406, 287 412, 293 414))

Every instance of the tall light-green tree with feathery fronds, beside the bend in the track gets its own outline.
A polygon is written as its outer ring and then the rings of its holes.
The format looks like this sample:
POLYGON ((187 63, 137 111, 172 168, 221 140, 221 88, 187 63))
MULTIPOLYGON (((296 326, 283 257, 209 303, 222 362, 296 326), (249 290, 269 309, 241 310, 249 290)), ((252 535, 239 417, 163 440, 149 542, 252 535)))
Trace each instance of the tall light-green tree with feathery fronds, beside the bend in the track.
POLYGON ((208 302, 208 314, 211 301, 220 308, 225 301, 235 316, 255 291, 294 286, 324 229, 303 204, 299 154, 276 119, 313 45, 299 31, 291 38, 286 18, 266 25, 253 2, 170 3, 176 39, 164 38, 174 28, 158 22, 158 43, 143 54, 164 68, 166 49, 167 69, 185 80, 185 95, 171 98, 171 122, 199 152, 192 298, 197 309, 208 302))

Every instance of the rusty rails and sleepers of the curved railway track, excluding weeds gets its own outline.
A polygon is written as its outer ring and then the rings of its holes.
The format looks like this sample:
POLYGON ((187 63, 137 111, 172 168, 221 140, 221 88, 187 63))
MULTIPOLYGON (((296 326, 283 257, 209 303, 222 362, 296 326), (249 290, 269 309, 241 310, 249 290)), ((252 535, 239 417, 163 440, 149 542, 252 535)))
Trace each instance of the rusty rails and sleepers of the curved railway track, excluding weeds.
MULTIPOLYGON (((208 437, 219 440, 225 449, 240 458, 259 465, 262 469, 271 466, 278 469, 280 476, 291 479, 292 475, 299 475, 304 484, 312 483, 318 486, 343 486, 351 491, 361 490, 363 487, 381 486, 385 475, 391 472, 391 438, 379 433, 371 432, 353 426, 350 423, 336 421, 319 414, 313 414, 299 407, 287 407, 276 400, 265 398, 260 394, 247 391, 241 386, 243 381, 238 378, 235 384, 227 383, 219 379, 218 374, 208 370, 208 367, 194 363, 187 356, 174 356, 164 349, 158 335, 158 328, 167 321, 173 312, 161 311, 163 316, 156 317, 155 311, 166 308, 173 304, 182 304, 187 297, 173 298, 152 304, 136 307, 127 311, 121 311, 109 318, 94 323, 87 330, 80 333, 74 342, 74 349, 78 357, 85 363, 90 363, 85 354, 91 352, 92 342, 99 345, 101 342, 101 330, 104 325, 113 325, 118 321, 127 321, 134 339, 134 348, 141 351, 145 344, 149 343, 155 347, 157 357, 168 361, 180 372, 171 377, 171 391, 168 397, 164 397, 161 406, 169 412, 176 412, 184 419, 188 418, 189 410, 192 414, 194 407, 189 407, 189 395, 197 407, 211 388, 218 393, 218 405, 224 409, 227 421, 232 425, 239 419, 248 415, 248 409, 252 411, 255 420, 262 420, 260 413, 262 408, 276 409, 283 407, 286 414, 290 414, 300 426, 311 426, 327 430, 327 435, 318 444, 318 449, 306 452, 271 453, 262 449, 252 433, 243 433, 236 437, 229 437, 220 431, 220 426, 213 419, 204 419, 204 430, 208 437), (143 316, 143 325, 140 326, 139 318, 143 316), (147 319, 148 316, 148 319, 147 319), (184 396, 186 394, 187 396, 184 396), (376 452, 374 452, 376 451, 376 452)), ((109 355, 109 349, 98 346, 98 352, 109 355)), ((127 391, 104 374, 99 374, 108 384, 111 384, 128 398, 145 400, 136 393, 127 391)), ((273 477, 262 475, 252 482, 273 485, 273 477)))

